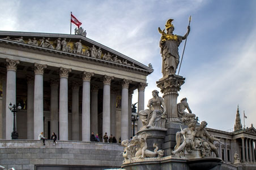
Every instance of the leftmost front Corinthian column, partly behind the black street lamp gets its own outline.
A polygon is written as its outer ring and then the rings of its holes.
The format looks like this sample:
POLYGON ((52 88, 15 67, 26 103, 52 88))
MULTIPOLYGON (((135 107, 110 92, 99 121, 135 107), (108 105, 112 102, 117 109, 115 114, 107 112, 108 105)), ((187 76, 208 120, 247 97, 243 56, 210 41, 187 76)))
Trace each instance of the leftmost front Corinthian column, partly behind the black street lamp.
POLYGON ((8 106, 10 103, 16 104, 16 69, 19 63, 19 60, 6 59, 6 140, 11 140, 13 119, 8 106))

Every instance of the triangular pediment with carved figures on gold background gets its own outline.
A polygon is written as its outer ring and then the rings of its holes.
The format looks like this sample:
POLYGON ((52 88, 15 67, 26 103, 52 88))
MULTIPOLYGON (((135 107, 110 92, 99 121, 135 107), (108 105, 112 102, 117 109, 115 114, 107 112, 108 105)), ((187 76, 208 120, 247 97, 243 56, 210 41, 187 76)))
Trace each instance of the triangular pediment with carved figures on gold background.
POLYGON ((22 45, 33 50, 54 51, 60 55, 79 57, 90 62, 118 66, 133 71, 144 72, 147 75, 153 72, 147 67, 126 55, 118 53, 87 37, 74 34, 28 33, 0 31, 2 43, 8 45, 22 45))

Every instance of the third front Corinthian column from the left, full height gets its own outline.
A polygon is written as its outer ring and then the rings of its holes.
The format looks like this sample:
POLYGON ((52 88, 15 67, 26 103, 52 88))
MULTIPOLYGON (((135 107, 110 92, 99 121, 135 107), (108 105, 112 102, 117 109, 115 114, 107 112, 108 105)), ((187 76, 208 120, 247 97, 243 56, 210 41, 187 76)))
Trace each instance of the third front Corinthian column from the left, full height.
POLYGON ((59 68, 59 140, 68 140, 68 84, 67 78, 71 68, 59 68))

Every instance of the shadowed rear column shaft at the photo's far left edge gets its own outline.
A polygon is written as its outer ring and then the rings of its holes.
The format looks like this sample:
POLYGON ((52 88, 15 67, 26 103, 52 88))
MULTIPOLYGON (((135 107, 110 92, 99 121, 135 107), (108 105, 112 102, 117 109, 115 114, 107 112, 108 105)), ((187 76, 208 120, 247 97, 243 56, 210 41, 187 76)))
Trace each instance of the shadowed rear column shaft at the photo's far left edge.
POLYGON ((3 88, 3 98, 2 98, 2 138, 6 139, 6 74, 2 77, 2 88, 3 88))

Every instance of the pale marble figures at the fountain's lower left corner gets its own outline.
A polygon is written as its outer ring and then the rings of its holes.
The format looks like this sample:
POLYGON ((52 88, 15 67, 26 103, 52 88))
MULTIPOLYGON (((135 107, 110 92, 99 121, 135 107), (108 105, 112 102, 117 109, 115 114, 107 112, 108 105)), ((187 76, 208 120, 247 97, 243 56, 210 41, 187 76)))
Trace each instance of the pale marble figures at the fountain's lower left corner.
POLYGON ((164 155, 163 150, 159 150, 157 143, 153 143, 154 151, 147 150, 147 136, 149 133, 143 132, 139 136, 134 136, 131 141, 122 141, 123 158, 143 159, 143 158, 161 158, 164 155))

